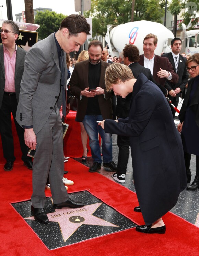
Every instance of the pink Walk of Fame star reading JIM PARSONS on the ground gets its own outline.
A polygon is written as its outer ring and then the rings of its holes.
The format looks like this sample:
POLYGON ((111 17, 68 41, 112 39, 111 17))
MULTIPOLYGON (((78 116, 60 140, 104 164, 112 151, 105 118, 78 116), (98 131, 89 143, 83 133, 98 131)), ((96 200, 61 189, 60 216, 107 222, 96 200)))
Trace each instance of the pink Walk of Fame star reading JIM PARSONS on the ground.
MULTIPOLYGON (((50 222, 58 222, 63 236, 64 242, 81 226, 81 225, 97 225, 108 227, 119 227, 104 219, 93 216, 92 214, 100 207, 102 203, 86 205, 84 208, 71 209, 65 207, 64 209, 55 209, 55 212, 48 213, 50 222), (69 220, 70 219, 70 220, 69 220), (73 220, 74 219, 74 220, 73 220), (73 221, 72 221, 73 220, 73 221)), ((28 217, 25 219, 32 219, 28 217)))

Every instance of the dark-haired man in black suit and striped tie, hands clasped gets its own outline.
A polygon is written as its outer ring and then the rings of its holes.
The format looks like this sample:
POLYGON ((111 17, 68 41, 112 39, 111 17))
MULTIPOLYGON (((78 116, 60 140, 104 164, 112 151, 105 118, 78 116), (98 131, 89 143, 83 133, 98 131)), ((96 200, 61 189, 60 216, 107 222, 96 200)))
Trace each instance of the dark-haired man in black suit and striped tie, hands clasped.
MULTIPOLYGON (((179 95, 180 92, 183 91, 185 88, 185 85, 188 82, 188 72, 186 70, 186 61, 187 59, 185 57, 182 57, 182 55, 179 54, 180 50, 182 48, 181 39, 176 37, 172 39, 171 41, 171 52, 165 53, 162 55, 162 57, 167 57, 169 61, 171 62, 174 71, 178 74, 179 80, 177 83, 170 83, 169 81, 166 81, 165 88, 168 90, 169 99, 174 104, 174 106, 178 106, 179 103, 179 95)), ((175 118, 175 110, 171 106, 171 111, 173 114, 173 117, 175 118)))

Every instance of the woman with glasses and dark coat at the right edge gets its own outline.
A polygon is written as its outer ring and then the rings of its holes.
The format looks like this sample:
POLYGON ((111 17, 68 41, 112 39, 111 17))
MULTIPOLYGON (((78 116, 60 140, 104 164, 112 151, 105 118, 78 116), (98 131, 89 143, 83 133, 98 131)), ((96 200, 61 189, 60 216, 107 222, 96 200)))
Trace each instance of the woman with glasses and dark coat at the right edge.
POLYGON ((191 154, 196 155, 196 176, 187 190, 197 190, 199 187, 199 53, 192 55, 186 62, 191 79, 179 113, 178 131, 184 149, 187 182, 191 181, 191 154))

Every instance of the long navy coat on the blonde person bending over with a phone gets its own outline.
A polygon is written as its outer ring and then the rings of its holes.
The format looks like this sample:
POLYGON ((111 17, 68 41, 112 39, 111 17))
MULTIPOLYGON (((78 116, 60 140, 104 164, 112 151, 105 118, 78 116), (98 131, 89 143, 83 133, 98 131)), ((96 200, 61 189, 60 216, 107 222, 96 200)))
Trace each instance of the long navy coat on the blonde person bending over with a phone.
POLYGON ((105 120, 105 132, 129 136, 133 178, 146 225, 166 214, 186 188, 182 141, 161 90, 140 74, 129 118, 105 120))

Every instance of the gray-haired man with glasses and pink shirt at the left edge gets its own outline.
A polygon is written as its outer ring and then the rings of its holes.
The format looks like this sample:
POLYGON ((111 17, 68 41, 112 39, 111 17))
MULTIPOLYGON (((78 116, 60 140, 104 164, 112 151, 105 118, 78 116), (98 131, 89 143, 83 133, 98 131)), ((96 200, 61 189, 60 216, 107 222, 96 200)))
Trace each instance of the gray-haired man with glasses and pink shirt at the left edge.
POLYGON ((15 119, 26 51, 17 47, 15 43, 19 35, 19 27, 14 21, 4 21, 0 32, 2 40, 2 45, 0 45, 0 134, 3 156, 6 159, 4 170, 11 171, 16 159, 14 156, 11 113, 19 137, 22 161, 28 169, 32 169, 33 162, 31 157, 27 156, 28 147, 24 142, 24 129, 15 119))

